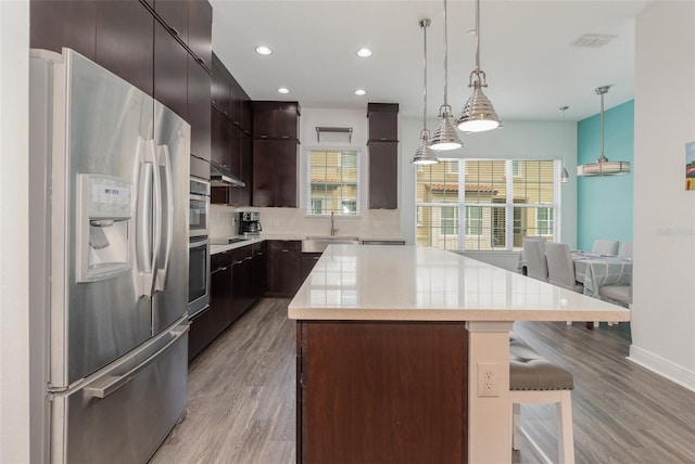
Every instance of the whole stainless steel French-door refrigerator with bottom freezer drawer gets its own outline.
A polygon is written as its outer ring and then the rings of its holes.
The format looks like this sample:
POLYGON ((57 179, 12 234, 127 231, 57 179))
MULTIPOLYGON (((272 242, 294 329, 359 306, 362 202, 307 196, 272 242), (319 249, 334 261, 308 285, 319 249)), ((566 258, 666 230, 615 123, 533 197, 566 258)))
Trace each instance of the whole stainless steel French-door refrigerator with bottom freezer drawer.
POLYGON ((144 463, 187 401, 190 126, 68 49, 29 77, 33 461, 144 463))

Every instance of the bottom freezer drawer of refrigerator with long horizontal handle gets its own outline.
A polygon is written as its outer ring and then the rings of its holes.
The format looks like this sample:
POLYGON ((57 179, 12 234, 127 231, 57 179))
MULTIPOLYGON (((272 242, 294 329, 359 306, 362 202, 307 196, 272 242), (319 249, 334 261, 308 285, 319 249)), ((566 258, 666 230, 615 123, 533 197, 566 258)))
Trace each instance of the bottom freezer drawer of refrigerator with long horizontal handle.
POLYGON ((51 462, 144 463, 186 409, 188 318, 52 395, 51 462))

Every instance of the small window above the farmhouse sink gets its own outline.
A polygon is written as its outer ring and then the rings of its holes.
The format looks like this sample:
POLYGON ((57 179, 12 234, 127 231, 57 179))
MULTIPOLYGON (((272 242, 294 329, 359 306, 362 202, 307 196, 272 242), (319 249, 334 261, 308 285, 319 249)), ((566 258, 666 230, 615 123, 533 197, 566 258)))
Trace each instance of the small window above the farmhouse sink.
POLYGON ((309 216, 359 214, 359 152, 312 150, 306 166, 309 216))

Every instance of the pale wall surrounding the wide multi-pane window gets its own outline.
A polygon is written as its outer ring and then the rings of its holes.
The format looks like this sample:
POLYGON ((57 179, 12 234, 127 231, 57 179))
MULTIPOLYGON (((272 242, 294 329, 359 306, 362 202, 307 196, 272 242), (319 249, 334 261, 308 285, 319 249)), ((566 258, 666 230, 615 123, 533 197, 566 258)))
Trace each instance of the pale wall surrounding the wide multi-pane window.
MULTIPOLYGON (((504 117, 502 115, 501 117, 504 117)), ((577 124, 565 123, 563 143, 561 114, 558 121, 507 121, 504 128, 490 132, 463 134, 462 149, 443 152, 442 157, 454 158, 503 158, 503 159, 563 159, 570 181, 561 185, 561 224, 558 240, 570 247, 577 245, 577 124)), ((427 121, 430 132, 438 120, 427 121)), ((401 118, 401 227, 408 244, 415 244, 415 166, 410 164, 419 143, 422 119, 401 118)), ((495 252, 501 253, 501 252, 495 252)), ((514 254, 515 256, 517 254, 514 254)), ((510 256, 511 260, 515 256, 510 256)), ((498 258, 497 258, 498 259, 498 258)))

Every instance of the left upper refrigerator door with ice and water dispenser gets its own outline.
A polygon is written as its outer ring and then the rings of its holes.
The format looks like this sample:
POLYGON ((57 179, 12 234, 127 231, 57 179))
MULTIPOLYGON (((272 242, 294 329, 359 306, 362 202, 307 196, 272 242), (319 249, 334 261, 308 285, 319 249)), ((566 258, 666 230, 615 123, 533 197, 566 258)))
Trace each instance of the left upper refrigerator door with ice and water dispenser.
MULTIPOLYGON (((50 385, 54 389, 73 385, 152 336, 151 292, 146 296, 138 292, 134 205, 144 194, 138 177, 146 152, 153 146, 154 100, 71 50, 65 49, 63 56, 65 64, 55 65, 50 102, 55 108, 54 141, 66 134, 62 143, 53 143, 52 155, 51 280, 64 282, 62 287, 54 286, 51 301, 50 385), (109 192, 105 181, 85 184, 86 175, 114 180, 112 184, 124 186, 127 195, 123 190, 118 195, 109 192), (127 214, 119 207, 126 196, 132 204, 127 214), (98 211, 94 217, 85 214, 85 202, 91 205, 89 211, 98 211), (110 208, 117 217, 109 217, 110 208), (94 233, 89 241, 93 249, 85 250, 78 239, 85 234, 77 231, 93 228, 106 232, 104 236, 94 233), (124 246, 128 249, 124 272, 93 282, 78 275, 78 259, 85 253, 122 257, 124 246), (111 253, 110 247, 116 249, 111 253)), ((150 223, 143 227, 152 229, 150 223)), ((143 240, 154 243, 152 236, 143 240)))

